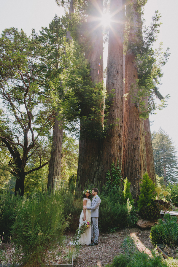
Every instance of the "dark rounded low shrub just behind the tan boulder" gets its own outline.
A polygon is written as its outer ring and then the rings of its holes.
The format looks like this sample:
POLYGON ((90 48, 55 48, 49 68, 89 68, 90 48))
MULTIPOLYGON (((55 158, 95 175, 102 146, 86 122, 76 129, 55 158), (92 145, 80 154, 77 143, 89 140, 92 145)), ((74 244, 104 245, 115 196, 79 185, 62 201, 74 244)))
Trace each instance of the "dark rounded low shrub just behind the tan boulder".
POLYGON ((139 215, 142 217, 142 219, 155 222, 160 217, 160 210, 158 209, 156 205, 150 205, 150 206, 143 207, 139 211, 139 215))

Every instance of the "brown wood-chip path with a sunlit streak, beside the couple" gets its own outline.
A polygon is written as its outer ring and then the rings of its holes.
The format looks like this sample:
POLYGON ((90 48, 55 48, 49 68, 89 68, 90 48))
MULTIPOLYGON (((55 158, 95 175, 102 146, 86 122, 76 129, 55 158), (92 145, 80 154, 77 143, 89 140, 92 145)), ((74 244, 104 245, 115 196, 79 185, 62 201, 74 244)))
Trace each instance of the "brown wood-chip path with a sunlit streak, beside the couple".
POLYGON ((138 228, 120 230, 116 233, 100 233, 98 246, 82 246, 74 267, 103 267, 107 263, 112 263, 112 259, 123 253, 122 242, 126 236, 136 236, 137 246, 140 251, 145 250, 150 254, 150 249, 154 246, 150 242, 150 230, 141 231, 138 228))

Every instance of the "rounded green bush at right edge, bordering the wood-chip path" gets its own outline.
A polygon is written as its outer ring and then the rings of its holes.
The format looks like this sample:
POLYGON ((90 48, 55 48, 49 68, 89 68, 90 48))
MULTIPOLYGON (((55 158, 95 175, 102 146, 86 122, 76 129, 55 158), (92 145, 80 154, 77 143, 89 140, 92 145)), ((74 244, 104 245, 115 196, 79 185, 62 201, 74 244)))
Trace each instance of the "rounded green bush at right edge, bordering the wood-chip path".
MULTIPOLYGON (((178 222, 177 217, 173 217, 170 214, 165 214, 163 220, 158 220, 159 224, 154 226, 154 236, 150 236, 151 241, 154 243, 156 234, 160 241, 167 244, 169 247, 178 245, 178 222)), ((154 243, 155 244, 155 243, 154 243)))

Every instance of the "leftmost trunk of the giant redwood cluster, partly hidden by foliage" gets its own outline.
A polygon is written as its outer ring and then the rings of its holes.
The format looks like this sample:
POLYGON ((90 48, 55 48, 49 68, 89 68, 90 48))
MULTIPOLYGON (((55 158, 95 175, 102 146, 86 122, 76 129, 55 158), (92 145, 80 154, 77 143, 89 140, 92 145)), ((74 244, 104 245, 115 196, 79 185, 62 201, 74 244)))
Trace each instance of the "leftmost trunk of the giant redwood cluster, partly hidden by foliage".
MULTIPOLYGON (((89 51, 86 51, 86 58, 91 66, 91 80, 93 82, 103 82, 103 35, 101 13, 103 12, 103 0, 92 0, 88 7, 88 29, 89 29, 89 51)), ((82 127, 82 125, 81 125, 82 127)), ((81 138, 79 140, 79 161, 77 169, 76 188, 81 190, 85 187, 85 182, 94 182, 94 177, 98 169, 98 157, 100 151, 100 141, 96 139, 81 138)))

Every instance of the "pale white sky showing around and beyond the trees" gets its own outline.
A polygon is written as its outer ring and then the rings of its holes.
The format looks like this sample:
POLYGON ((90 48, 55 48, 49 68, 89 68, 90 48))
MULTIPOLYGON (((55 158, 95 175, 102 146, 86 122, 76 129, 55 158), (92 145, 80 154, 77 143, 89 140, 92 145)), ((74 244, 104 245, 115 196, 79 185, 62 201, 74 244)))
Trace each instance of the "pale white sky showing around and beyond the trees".
MULTIPOLYGON (((150 116, 151 131, 163 128, 172 137, 178 148, 178 0, 148 0, 144 7, 146 25, 151 22, 151 17, 156 9, 162 15, 163 25, 160 27, 158 42, 155 46, 158 47, 158 43, 163 42, 163 49, 166 50, 167 47, 170 47, 171 53, 168 63, 163 68, 164 75, 161 79, 160 93, 163 96, 170 94, 170 98, 166 109, 158 110, 156 115, 150 116)), ((1 0, 0 33, 4 28, 16 27, 22 28, 29 36, 32 28, 38 32, 42 26, 48 26, 55 14, 64 15, 63 8, 58 7, 55 0, 1 0)), ((105 62, 107 62, 106 59, 105 62)))

